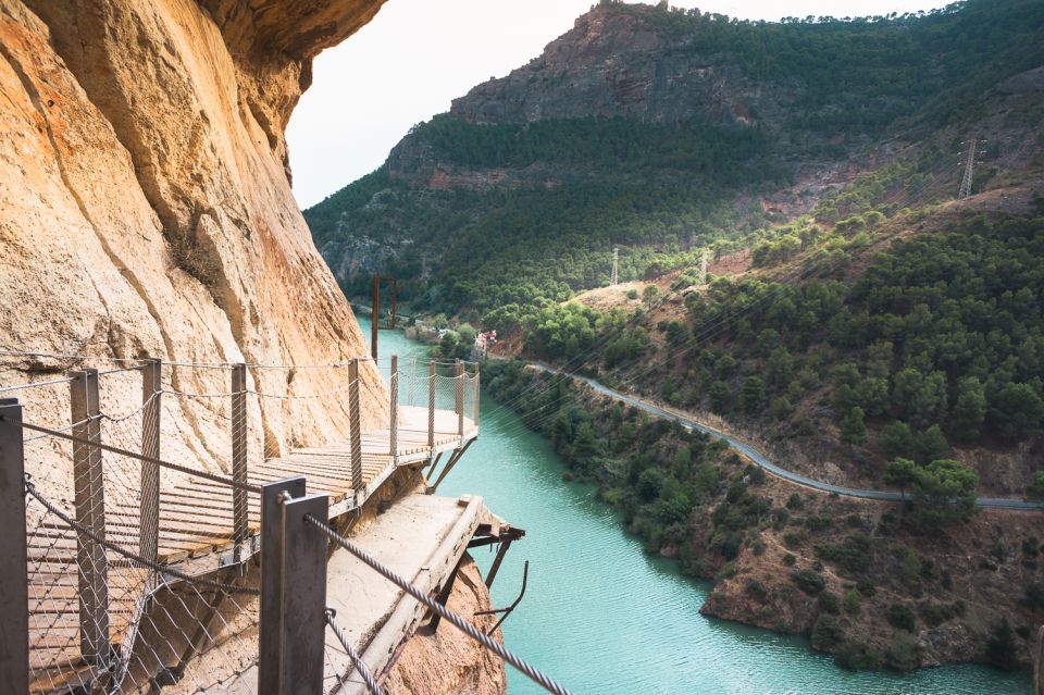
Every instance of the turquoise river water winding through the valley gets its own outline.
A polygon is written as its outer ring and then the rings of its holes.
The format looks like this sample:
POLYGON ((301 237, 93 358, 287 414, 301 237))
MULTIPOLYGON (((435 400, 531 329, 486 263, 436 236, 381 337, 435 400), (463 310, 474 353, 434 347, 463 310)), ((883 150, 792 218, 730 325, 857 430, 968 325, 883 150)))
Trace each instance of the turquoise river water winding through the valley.
MULTIPOLYGON (((369 335, 369 323, 360 320, 369 335)), ((426 346, 381 332, 382 357, 426 356, 426 346)), ((576 695, 1007 695, 1032 693, 1026 673, 979 666, 913 674, 853 673, 808 641, 699 615, 708 582, 642 550, 592 488, 561 480, 564 463, 542 437, 488 396, 481 436, 438 489, 472 493, 526 530, 493 587, 510 604, 530 561, 525 598, 504 625, 507 646, 576 695)), ((483 571, 493 554, 474 551, 483 571)), ((447 625, 444 629, 451 629, 447 625)), ((508 668, 509 695, 544 693, 508 668)))

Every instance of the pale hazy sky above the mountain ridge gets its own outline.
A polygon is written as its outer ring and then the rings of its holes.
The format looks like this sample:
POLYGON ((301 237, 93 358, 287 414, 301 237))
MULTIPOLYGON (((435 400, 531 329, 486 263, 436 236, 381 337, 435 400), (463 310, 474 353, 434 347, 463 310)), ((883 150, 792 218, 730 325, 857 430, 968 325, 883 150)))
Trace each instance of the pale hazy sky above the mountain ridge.
MULTIPOLYGON (((374 20, 315 59, 287 132, 301 208, 384 162, 406 132, 489 77, 536 58, 594 0, 388 0, 374 20)), ((939 0, 687 0, 743 18, 859 16, 943 7, 939 0)))

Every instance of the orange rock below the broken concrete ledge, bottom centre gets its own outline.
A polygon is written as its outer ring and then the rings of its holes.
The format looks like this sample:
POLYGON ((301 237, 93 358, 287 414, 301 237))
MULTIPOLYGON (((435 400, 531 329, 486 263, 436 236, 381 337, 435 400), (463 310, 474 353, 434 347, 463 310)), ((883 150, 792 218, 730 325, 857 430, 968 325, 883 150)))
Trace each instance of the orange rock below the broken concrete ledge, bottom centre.
MULTIPOLYGON (((464 557, 447 604, 461 616, 489 608, 489 591, 478 568, 464 557)), ((496 622, 480 616, 474 624, 496 622)), ((498 638, 500 631, 497 630, 498 638)), ((507 691, 504 661, 447 623, 435 634, 415 634, 403 646, 384 682, 388 695, 497 695, 507 691)))

